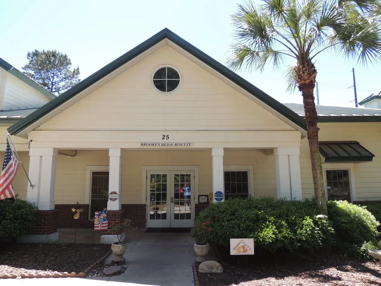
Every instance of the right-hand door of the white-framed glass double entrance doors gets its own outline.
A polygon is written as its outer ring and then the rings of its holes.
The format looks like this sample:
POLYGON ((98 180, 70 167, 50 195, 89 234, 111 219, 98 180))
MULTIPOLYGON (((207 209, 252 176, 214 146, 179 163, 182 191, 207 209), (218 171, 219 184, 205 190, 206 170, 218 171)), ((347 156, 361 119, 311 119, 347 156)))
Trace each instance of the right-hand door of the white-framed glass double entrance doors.
POLYGON ((171 227, 194 225, 194 171, 171 171, 171 227))

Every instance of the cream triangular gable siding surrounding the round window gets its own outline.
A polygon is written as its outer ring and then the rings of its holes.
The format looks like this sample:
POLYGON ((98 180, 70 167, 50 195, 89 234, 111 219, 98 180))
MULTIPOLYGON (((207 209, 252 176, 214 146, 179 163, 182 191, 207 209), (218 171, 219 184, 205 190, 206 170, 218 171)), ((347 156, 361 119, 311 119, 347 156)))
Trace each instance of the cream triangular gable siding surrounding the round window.
POLYGON ((40 130, 293 130, 190 59, 163 47, 42 124, 40 130), (178 90, 151 83, 161 64, 181 71, 178 90))

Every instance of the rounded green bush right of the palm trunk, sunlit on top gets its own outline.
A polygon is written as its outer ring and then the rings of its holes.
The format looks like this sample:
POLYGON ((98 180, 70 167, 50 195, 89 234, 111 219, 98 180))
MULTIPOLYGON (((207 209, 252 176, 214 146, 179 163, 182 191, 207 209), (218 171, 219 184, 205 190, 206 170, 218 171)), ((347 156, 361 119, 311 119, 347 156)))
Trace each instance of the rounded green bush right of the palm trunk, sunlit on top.
POLYGON ((379 222, 367 207, 347 201, 328 201, 327 208, 335 248, 347 254, 359 254, 364 252, 364 245, 377 243, 379 222))

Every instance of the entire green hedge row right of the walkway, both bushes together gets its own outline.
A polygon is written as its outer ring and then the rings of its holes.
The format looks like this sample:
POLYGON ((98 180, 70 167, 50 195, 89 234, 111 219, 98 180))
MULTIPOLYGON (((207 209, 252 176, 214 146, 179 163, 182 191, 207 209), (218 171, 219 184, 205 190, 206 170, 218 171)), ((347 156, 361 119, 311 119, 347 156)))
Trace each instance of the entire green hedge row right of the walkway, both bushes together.
POLYGON ((359 254, 368 243, 377 243, 379 223, 366 207, 346 201, 329 201, 327 207, 328 219, 321 221, 312 199, 229 199, 200 212, 192 234, 196 241, 222 246, 230 238, 253 238, 257 247, 271 252, 316 252, 328 241, 336 250, 359 254), (202 228, 204 222, 210 231, 202 228))

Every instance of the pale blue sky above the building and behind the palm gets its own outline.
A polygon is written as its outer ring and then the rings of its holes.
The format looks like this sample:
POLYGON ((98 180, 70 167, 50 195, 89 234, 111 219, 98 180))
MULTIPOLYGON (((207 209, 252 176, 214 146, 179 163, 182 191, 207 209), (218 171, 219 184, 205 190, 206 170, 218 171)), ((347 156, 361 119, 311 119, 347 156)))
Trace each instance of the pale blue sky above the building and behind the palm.
MULTIPOLYGON (((56 49, 66 53, 73 66, 80 67, 80 78, 85 79, 167 27, 225 63, 229 45, 234 42, 230 14, 241 2, 3 1, 0 57, 21 69, 27 63, 27 51, 56 49)), ((334 53, 322 53, 316 66, 320 104, 354 107, 352 67, 355 68, 359 101, 381 90, 379 64, 364 67, 334 53)), ((282 103, 302 103, 300 93, 290 95, 286 92, 282 70, 274 71, 268 66, 263 73, 239 74, 282 103)))

